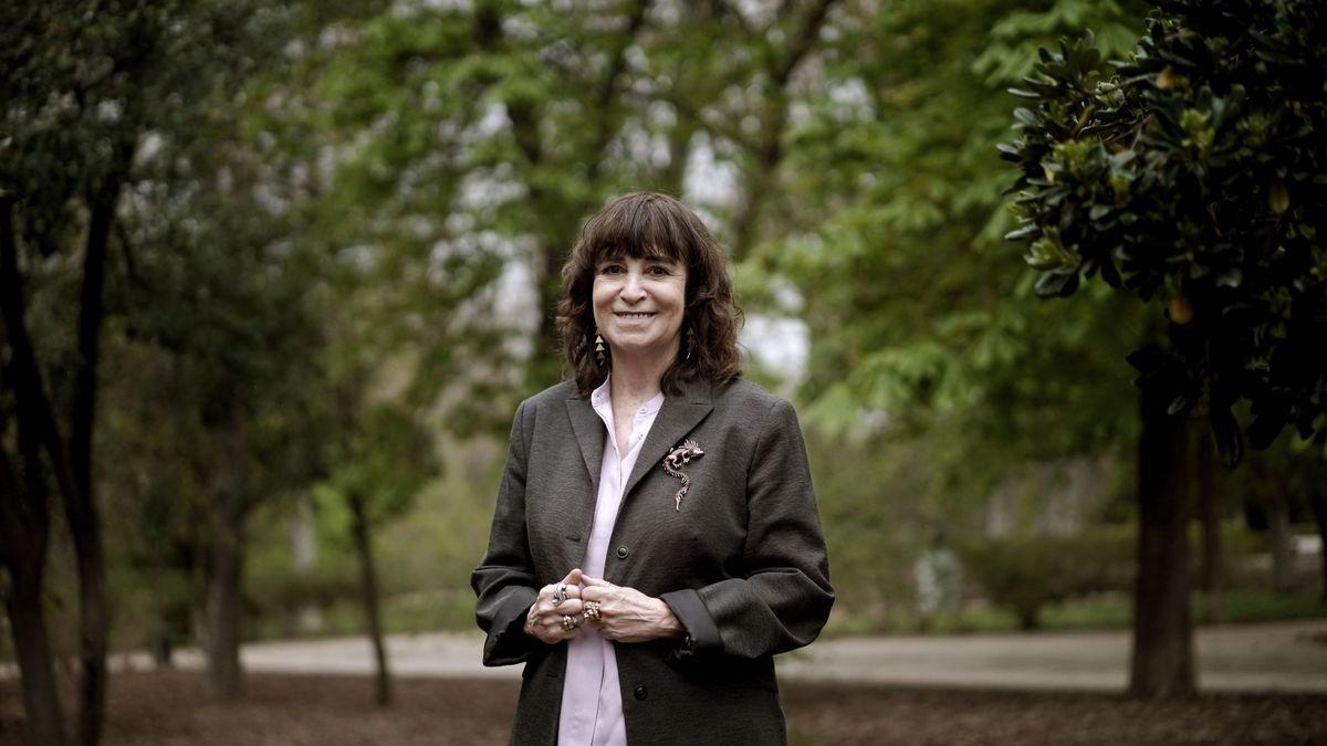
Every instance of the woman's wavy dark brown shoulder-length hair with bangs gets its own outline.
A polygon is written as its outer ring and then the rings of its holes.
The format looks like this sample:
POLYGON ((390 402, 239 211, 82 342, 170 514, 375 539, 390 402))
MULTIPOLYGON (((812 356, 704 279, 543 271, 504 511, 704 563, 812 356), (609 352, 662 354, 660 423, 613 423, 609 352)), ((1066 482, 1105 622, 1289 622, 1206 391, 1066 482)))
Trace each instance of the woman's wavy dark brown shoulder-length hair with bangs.
POLYGON ((618 196, 591 218, 563 264, 563 297, 557 301, 557 332, 576 389, 588 397, 613 366, 605 345, 604 364, 594 360, 594 271, 606 258, 666 258, 686 265, 686 305, 677 360, 664 372, 660 388, 679 393, 693 376, 715 384, 742 374, 738 329, 742 311, 733 301, 727 258, 705 223, 665 194, 618 196), (687 333, 694 335, 690 358, 687 333))

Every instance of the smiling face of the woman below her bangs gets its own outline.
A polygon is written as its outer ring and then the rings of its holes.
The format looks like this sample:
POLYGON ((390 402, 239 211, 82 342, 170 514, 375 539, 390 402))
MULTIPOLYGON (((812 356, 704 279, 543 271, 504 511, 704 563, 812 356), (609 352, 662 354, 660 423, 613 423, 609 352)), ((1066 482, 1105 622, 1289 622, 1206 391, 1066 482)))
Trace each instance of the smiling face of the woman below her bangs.
POLYGON ((594 268, 594 325, 614 364, 675 356, 686 265, 671 259, 604 259, 594 268))

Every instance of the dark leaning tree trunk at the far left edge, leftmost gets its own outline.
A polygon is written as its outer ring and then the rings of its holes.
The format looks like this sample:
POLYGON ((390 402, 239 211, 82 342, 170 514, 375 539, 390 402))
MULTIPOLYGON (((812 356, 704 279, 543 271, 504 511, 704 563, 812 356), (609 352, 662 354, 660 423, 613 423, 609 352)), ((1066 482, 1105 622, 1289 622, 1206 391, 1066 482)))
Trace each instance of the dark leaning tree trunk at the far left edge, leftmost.
MULTIPOLYGON (((0 414, 0 434, 4 433, 0 414)), ((23 677, 23 706, 28 715, 28 742, 62 746, 64 715, 56 674, 50 665, 50 641, 41 607, 50 522, 45 500, 24 510, 23 487, 9 455, 0 450, 0 559, 9 571, 5 609, 23 677)), ((28 500, 31 503, 31 500, 28 500)))

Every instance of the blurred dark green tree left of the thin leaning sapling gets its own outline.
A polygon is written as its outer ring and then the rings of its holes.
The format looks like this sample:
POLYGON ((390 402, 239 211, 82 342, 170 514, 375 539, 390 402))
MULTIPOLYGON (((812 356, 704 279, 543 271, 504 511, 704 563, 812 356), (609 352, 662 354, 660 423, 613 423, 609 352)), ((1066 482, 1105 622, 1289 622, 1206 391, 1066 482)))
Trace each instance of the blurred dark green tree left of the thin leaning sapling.
POLYGON ((176 459, 187 463, 180 498, 196 500, 203 522, 208 682, 223 697, 243 686, 248 519, 318 478, 330 388, 318 364, 322 258, 292 240, 297 215, 273 208, 284 185, 240 137, 240 119, 214 121, 206 147, 171 147, 145 165, 170 173, 131 215, 139 281, 123 299, 126 336, 163 360, 178 386, 159 433, 191 437, 138 458, 163 478, 176 459))

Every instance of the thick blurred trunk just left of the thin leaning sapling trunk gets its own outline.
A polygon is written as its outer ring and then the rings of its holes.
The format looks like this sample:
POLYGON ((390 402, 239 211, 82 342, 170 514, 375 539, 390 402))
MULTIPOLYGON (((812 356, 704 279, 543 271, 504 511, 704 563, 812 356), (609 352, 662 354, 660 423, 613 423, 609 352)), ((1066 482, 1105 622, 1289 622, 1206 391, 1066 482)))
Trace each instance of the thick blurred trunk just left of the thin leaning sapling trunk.
MULTIPOLYGON (((238 417, 238 415, 236 415, 238 417)), ((222 475, 212 494, 211 546, 207 567, 207 684, 212 693, 243 693, 240 669, 240 580, 244 569, 244 519, 248 515, 243 425, 231 423, 222 438, 222 475)))

